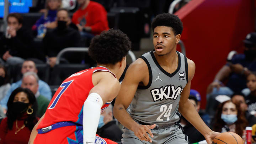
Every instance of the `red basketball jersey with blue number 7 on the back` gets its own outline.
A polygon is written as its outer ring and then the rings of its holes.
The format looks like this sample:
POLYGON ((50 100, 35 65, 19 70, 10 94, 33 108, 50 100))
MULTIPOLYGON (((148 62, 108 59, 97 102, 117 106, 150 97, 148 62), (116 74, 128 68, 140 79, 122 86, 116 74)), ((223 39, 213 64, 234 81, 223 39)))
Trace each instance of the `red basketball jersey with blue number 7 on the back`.
MULTIPOLYGON (((84 102, 90 90, 94 87, 92 84, 92 74, 96 71, 108 71, 112 73, 107 68, 99 66, 82 70, 69 76, 55 92, 46 110, 45 116, 37 129, 66 121, 82 125, 84 102)), ((110 103, 105 103, 105 105, 101 107, 101 112, 105 110, 108 105, 110 105, 110 103)))

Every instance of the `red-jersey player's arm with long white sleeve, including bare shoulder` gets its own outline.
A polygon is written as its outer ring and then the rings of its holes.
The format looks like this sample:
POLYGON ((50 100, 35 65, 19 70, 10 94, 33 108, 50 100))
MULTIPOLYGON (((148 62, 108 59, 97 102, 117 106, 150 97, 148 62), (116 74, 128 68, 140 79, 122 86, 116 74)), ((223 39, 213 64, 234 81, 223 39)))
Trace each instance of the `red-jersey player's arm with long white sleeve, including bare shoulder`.
POLYGON ((94 87, 84 102, 83 107, 83 138, 84 144, 94 144, 101 107, 109 100, 113 100, 120 90, 119 81, 106 71, 92 75, 94 87))

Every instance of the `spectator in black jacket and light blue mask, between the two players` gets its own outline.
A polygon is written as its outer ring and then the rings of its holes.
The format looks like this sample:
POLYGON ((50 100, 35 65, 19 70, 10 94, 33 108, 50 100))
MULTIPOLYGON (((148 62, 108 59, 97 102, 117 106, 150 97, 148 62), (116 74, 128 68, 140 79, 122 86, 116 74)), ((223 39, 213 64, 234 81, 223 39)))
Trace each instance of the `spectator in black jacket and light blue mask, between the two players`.
POLYGON ((97 134, 102 138, 108 138, 115 142, 121 142, 123 132, 117 126, 117 121, 113 120, 113 106, 111 104, 100 116, 97 134))

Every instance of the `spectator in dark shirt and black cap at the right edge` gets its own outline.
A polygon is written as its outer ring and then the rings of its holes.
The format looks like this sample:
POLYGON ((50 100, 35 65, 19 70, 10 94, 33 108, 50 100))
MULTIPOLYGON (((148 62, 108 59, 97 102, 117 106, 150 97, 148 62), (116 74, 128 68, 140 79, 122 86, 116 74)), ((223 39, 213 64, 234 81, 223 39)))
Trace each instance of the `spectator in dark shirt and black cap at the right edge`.
POLYGON ((244 54, 235 54, 215 75, 207 88, 207 99, 216 95, 232 95, 246 88, 246 77, 256 71, 256 32, 247 34, 244 54), (228 79, 226 85, 223 81, 228 79))

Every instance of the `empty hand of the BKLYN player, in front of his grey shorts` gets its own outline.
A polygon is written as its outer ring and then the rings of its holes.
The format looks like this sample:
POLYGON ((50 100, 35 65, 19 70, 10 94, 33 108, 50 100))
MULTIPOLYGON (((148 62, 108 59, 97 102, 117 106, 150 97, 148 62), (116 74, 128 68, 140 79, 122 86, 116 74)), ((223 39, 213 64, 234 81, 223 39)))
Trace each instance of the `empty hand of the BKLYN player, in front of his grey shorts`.
POLYGON ((149 135, 151 138, 153 138, 153 134, 151 133, 150 129, 153 129, 156 126, 156 124, 153 125, 139 125, 138 127, 135 127, 132 131, 134 134, 140 139, 145 140, 146 142, 152 143, 152 140, 149 138, 149 135))

